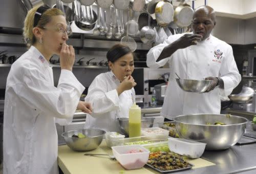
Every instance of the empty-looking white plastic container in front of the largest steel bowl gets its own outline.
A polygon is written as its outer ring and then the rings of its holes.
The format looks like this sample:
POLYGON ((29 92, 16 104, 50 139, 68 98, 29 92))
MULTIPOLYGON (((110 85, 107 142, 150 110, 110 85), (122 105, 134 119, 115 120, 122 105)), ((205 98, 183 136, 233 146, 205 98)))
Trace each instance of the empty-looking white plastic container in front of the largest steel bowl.
POLYGON ((189 158, 200 158, 204 153, 206 143, 181 138, 168 138, 168 146, 170 151, 174 153, 189 158))

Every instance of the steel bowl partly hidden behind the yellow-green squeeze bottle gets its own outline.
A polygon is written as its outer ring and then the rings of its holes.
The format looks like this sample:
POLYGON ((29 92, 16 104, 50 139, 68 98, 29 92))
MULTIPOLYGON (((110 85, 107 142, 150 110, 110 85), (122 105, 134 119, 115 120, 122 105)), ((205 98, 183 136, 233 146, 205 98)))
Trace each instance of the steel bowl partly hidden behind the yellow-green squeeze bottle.
MULTIPOLYGON (((129 136, 129 118, 119 118, 119 128, 122 133, 126 136, 129 136)), ((154 118, 142 118, 141 119, 141 128, 153 127, 154 118)))

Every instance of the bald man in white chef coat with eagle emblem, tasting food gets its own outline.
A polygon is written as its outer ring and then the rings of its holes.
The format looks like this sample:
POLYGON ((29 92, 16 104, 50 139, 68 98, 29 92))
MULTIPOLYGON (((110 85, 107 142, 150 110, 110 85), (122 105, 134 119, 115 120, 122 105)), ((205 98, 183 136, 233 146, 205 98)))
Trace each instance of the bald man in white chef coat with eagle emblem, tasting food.
POLYGON ((194 12, 193 33, 169 36, 148 52, 148 67, 159 68, 167 62, 170 66, 162 116, 220 114, 220 96, 228 96, 241 81, 231 46, 210 34, 215 25, 214 9, 201 6, 194 12), (184 92, 175 73, 182 79, 211 79, 212 84, 203 94, 184 92))

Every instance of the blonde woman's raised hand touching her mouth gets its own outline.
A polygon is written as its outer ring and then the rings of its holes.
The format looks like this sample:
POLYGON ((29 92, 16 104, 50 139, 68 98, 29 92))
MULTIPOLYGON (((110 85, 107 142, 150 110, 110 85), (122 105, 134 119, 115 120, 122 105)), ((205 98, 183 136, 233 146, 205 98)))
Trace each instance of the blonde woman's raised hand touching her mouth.
POLYGON ((66 43, 61 45, 61 50, 59 54, 59 61, 61 70, 72 71, 73 64, 75 62, 75 50, 72 46, 68 46, 66 43))

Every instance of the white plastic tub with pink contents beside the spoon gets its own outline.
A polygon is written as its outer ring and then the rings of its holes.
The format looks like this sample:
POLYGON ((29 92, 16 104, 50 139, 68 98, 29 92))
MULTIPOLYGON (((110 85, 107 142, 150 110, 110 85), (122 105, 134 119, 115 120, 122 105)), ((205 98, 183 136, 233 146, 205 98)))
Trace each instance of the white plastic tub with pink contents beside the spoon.
POLYGON ((113 155, 127 170, 142 168, 150 156, 150 151, 141 145, 112 147, 113 155))

